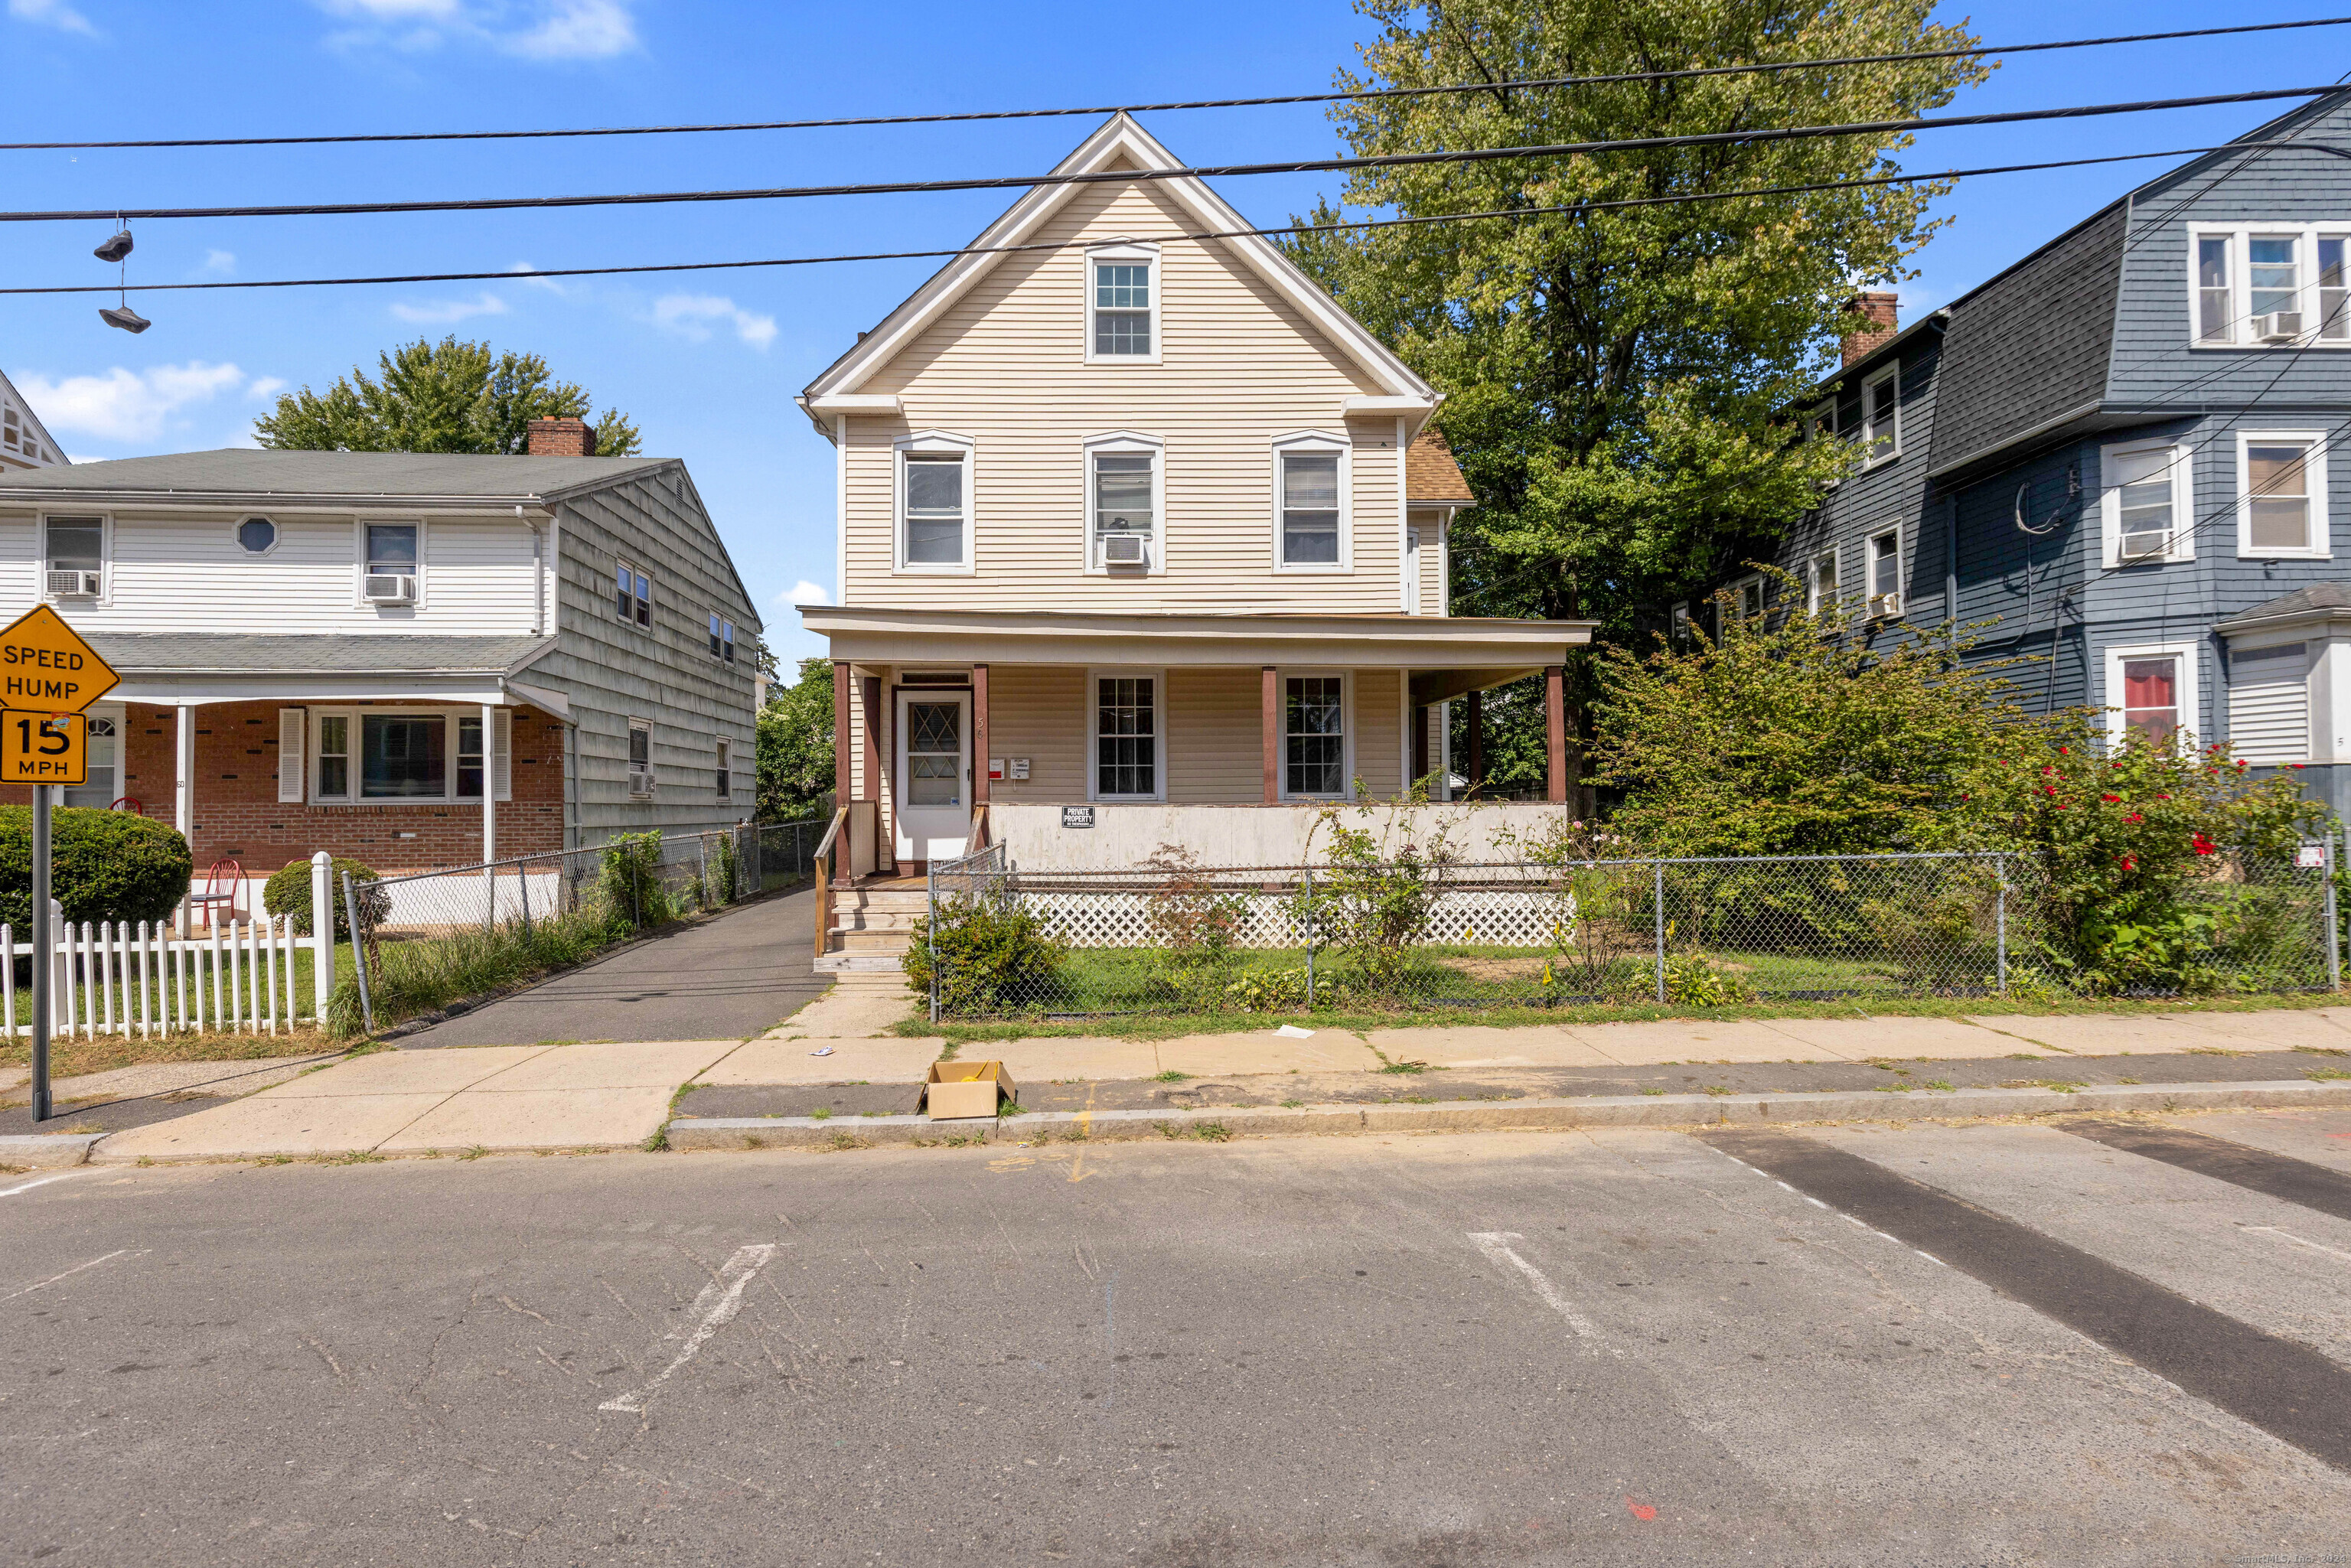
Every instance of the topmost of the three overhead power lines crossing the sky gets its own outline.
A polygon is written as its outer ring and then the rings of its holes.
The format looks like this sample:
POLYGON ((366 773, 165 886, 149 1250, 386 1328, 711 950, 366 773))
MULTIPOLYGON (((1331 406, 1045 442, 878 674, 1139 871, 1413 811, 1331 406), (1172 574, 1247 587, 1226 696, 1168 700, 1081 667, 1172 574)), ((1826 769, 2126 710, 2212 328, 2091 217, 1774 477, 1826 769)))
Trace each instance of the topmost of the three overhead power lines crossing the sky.
POLYGON ((2177 38, 2226 38, 2238 33, 2283 33, 2292 28, 2335 28, 2351 16, 2311 16, 2306 21, 2257 21, 2233 28, 2184 28, 2172 33, 2121 33, 2116 38, 2059 38, 2034 45, 1975 45, 1970 49, 1907 49, 1902 54, 1841 54, 1829 59, 1763 61, 1751 66, 1690 66, 1683 71, 1620 71, 1613 75, 1547 75, 1507 82, 1448 82, 1441 87, 1364 87, 1354 92, 1295 92, 1272 99, 1176 99, 1166 103, 1098 103, 1089 108, 987 108, 950 115, 853 115, 837 120, 738 120, 719 125, 604 125, 531 132, 360 132, 348 136, 158 136, 146 141, 0 141, 0 153, 68 153, 103 148, 282 148, 350 146, 369 141, 545 141, 557 136, 682 136, 705 132, 816 132, 860 125, 962 125, 971 120, 1051 120, 1060 115, 1143 115, 1178 108, 1272 108, 1284 103, 1345 103, 1366 99, 1420 99, 1465 92, 1519 92, 1554 87, 1606 87, 1617 82, 1674 82, 1709 75, 1773 75, 1782 71, 1829 71, 1841 66, 1886 66, 1925 59, 1968 59, 1977 54, 2038 54, 2045 49, 2099 49, 2109 45, 2168 42, 2177 38))

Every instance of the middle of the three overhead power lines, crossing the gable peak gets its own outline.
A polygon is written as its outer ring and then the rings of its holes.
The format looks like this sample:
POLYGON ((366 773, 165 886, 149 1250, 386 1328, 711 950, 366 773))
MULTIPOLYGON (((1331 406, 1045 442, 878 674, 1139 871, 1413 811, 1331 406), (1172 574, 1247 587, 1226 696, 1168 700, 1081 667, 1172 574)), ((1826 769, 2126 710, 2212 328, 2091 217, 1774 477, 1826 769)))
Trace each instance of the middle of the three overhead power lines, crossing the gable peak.
POLYGON ((505 212, 543 207, 654 207, 668 202, 778 202, 813 195, 910 195, 938 190, 1011 190, 1037 186, 1093 186, 1164 179, 1232 179, 1244 174, 1333 174, 1347 169, 1399 169, 1415 165, 1495 162, 1509 158, 1575 158, 1589 153, 1639 153, 1660 148, 1704 148, 1728 143, 1817 141, 1827 136, 1888 136, 1942 132, 1975 125, 2024 125, 2034 120, 2090 120, 2097 115, 2137 115, 2161 108, 2210 108, 2215 103, 2264 103, 2273 99, 2316 99, 2344 92, 2342 82, 2323 87, 2266 87, 2262 92, 2219 92, 2193 99, 2137 99, 2130 103, 2071 103, 2064 108, 2012 108, 1991 115, 1935 115, 1914 120, 1850 120, 1838 125, 1784 125, 1744 132, 1693 132, 1683 136, 1629 136, 1617 141, 1554 141, 1545 146, 1465 148, 1455 153, 1380 153, 1371 158, 1305 158, 1291 162, 1234 162, 1178 169, 1091 169, 1084 174, 992 174, 980 179, 912 179, 856 186, 769 186, 757 190, 642 190, 630 195, 503 195, 430 202, 303 202, 273 207, 92 207, 82 212, 0 212, 0 223, 96 223, 158 219, 306 219, 404 212, 505 212))

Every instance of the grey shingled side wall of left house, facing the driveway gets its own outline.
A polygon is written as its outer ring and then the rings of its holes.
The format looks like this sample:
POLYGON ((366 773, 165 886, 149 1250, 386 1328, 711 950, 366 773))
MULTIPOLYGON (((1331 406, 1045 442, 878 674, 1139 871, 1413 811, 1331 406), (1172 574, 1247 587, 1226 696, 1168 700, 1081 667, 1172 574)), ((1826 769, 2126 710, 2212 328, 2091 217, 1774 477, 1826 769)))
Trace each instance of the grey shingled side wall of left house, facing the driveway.
POLYGON ((524 679, 571 701, 578 844, 614 832, 696 832, 752 813, 752 672, 759 616, 684 468, 588 491, 560 508, 557 649, 524 679), (614 564, 654 578, 654 625, 623 623, 614 564), (710 656, 710 614, 736 658, 710 656), (654 797, 628 792, 628 722, 654 726, 654 797), (717 797, 717 741, 734 741, 734 799, 717 797))

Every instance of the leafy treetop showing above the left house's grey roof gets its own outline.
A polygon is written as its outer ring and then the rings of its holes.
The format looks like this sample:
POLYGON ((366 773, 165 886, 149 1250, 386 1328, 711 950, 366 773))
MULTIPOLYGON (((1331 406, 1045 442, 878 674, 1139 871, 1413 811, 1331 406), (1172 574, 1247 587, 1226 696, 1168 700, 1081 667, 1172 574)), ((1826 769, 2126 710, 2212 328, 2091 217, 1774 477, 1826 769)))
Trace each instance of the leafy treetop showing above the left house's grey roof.
MULTIPOLYGON (((529 451, 534 418, 588 418, 588 393, 555 381, 538 355, 494 353, 489 343, 416 339, 376 355, 381 378, 353 369, 324 393, 284 393, 254 421, 263 447, 308 451, 529 451)), ((616 409, 595 421, 597 456, 642 449, 637 425, 616 409)))

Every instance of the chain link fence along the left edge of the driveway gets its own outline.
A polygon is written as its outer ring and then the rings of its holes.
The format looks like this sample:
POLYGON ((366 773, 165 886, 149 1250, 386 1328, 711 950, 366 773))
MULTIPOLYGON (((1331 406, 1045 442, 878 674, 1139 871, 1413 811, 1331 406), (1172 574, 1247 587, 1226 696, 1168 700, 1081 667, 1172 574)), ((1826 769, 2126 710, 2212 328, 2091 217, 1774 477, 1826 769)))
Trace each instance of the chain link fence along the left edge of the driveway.
POLYGON ((360 961, 329 1023, 374 1030, 795 886, 820 835, 823 823, 628 832, 595 849, 346 882, 334 889, 336 936, 357 936, 360 961))

